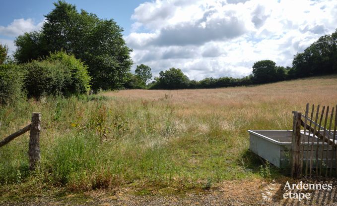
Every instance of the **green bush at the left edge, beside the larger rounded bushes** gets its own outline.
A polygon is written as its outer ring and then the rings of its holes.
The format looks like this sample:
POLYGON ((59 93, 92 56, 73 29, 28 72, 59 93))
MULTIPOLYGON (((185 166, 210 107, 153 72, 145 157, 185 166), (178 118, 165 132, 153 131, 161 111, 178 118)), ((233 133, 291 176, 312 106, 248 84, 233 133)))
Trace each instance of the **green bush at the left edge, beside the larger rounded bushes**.
POLYGON ((22 96, 24 71, 15 64, 0 64, 0 104, 13 103, 22 96))

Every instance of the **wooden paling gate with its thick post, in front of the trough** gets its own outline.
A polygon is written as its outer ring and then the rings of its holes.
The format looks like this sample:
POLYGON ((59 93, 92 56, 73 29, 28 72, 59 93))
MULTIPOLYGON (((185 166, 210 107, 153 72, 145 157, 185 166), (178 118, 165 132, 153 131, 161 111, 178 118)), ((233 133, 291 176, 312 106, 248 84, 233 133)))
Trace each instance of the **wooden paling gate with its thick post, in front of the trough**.
POLYGON ((309 111, 307 103, 305 114, 293 114, 291 176, 337 176, 337 105, 320 110, 313 104, 309 111))

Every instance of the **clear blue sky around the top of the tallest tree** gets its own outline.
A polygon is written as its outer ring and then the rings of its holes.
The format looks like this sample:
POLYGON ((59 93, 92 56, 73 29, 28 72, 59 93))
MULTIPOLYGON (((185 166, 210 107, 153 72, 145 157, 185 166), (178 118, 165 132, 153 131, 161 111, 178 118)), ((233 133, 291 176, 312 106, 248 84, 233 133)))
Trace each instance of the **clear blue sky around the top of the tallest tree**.
MULTIPOLYGON (((34 22, 41 22, 44 15, 53 8, 56 0, 2 0, 0 6, 0 25, 7 26, 13 19, 31 18, 34 22)), ((77 9, 84 9, 95 13, 100 18, 113 18, 125 29, 124 35, 130 33, 131 15, 134 9, 145 0, 67 0, 75 4, 77 9)))

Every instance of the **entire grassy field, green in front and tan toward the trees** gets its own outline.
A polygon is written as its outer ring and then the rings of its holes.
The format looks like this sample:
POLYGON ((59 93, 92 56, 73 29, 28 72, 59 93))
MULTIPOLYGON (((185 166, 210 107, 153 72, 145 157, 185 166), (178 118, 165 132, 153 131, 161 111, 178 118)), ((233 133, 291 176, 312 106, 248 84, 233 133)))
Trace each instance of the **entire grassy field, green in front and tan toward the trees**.
POLYGON ((42 113, 41 166, 28 135, 0 148, 0 199, 50 190, 151 188, 184 192, 222 181, 281 177, 248 151, 248 129, 291 129, 306 103, 336 105, 337 76, 254 87, 124 90, 0 107, 1 139, 42 113), (34 191, 31 190, 34 188, 34 191))

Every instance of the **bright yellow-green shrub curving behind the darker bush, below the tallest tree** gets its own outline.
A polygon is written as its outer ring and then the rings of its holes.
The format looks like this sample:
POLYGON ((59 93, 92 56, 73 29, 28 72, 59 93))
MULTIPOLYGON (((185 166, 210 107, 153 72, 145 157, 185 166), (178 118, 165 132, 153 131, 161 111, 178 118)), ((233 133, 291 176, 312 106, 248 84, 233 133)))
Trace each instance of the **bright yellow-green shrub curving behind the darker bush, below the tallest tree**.
POLYGON ((59 60, 71 72, 71 79, 66 82, 65 89, 68 94, 83 94, 90 89, 91 77, 88 73, 88 68, 83 62, 76 59, 74 55, 68 55, 65 52, 59 51, 51 53, 48 57, 49 61, 59 60))

